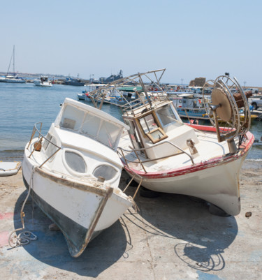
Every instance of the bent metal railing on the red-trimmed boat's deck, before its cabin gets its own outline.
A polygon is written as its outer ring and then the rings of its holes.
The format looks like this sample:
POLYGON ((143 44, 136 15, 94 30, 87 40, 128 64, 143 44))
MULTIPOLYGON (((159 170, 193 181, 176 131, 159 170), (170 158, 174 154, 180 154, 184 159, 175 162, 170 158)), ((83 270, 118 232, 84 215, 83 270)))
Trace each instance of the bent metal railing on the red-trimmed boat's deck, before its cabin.
POLYGON ((161 159, 168 159, 168 158, 170 158, 170 157, 172 157, 172 156, 178 156, 178 155, 180 155, 180 154, 186 154, 187 156, 189 156, 189 159, 191 160, 191 163, 192 163, 192 164, 195 164, 195 163, 194 163, 194 159, 193 159, 193 157, 191 156, 191 154, 185 152, 182 148, 178 147, 177 145, 175 145, 174 143, 171 143, 171 142, 169 142, 169 141, 164 141, 164 142, 161 142, 161 143, 159 143, 159 144, 157 144, 157 145, 154 145, 154 146, 152 146, 152 147, 141 148, 141 149, 130 149, 130 150, 129 150, 129 149, 123 149, 123 148, 121 148, 121 147, 118 147, 117 149, 118 149, 118 150, 117 150, 117 154, 119 155, 120 158, 123 157, 123 159, 124 159, 124 161, 125 161, 125 163, 126 163, 126 165, 127 165, 128 168, 130 168, 130 167, 129 167, 129 163, 140 163, 140 165, 141 165, 141 167, 143 168, 143 170, 144 170, 145 173, 147 173, 147 170, 145 170, 145 166, 144 166, 143 163, 148 163, 148 162, 150 162, 150 161, 159 161, 159 160, 161 160, 161 159), (157 147, 157 146, 160 146, 160 145, 163 145, 163 144, 169 144, 169 145, 175 147, 176 149, 179 149, 181 152, 180 152, 180 153, 175 153, 175 154, 170 154, 170 155, 168 155, 168 156, 161 156, 161 157, 156 158, 156 159, 147 159, 147 160, 141 160, 141 159, 140 159, 140 156, 138 155, 138 152, 146 151, 147 149, 152 149, 152 148, 154 148, 154 147, 157 147), (119 152, 119 150, 120 150, 120 152, 119 152), (129 159, 126 159, 126 156, 125 156, 124 152, 126 152, 126 154, 130 154, 131 152, 134 152, 134 153, 136 154, 136 158, 138 159, 138 161, 131 161, 131 160, 129 160, 129 159))

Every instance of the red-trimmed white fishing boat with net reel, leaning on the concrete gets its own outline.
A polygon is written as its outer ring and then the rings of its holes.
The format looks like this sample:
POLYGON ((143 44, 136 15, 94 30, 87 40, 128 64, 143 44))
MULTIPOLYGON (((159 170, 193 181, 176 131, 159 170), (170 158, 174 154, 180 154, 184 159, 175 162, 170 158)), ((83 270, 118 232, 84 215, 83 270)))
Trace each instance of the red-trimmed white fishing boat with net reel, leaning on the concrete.
POLYGON ((122 107, 122 117, 130 127, 117 149, 124 169, 138 187, 194 196, 206 200, 210 212, 239 214, 240 169, 254 142, 249 132, 249 105, 240 84, 227 76, 206 82, 203 92, 212 88, 212 94, 208 101, 203 94, 203 101, 213 126, 184 124, 164 91, 159 90, 154 98, 147 94, 145 84, 153 80, 161 88, 164 71, 138 73, 116 83, 117 87, 138 80, 143 87, 140 102, 122 107), (238 101, 231 87, 238 88, 238 101), (239 101, 244 119, 240 119, 239 101), (219 126, 218 119, 224 120, 224 127, 219 126))

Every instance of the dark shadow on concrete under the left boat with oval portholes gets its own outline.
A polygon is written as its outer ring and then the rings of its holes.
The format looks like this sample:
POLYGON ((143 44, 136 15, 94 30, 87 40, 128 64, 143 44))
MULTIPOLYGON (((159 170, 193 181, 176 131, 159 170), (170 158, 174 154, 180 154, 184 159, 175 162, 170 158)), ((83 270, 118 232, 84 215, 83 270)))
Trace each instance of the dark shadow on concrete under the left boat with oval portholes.
MULTIPOLYGON (((15 204, 15 229, 21 228, 20 211, 26 196, 27 191, 24 191, 15 204)), ((25 230, 34 233, 37 240, 31 241, 23 248, 46 265, 82 276, 97 277, 119 258, 126 256, 126 245, 129 244, 129 240, 126 240, 122 219, 94 238, 80 257, 73 258, 69 255, 64 235, 61 231, 49 230, 52 221, 45 216, 31 197, 24 207, 24 214, 25 230)))

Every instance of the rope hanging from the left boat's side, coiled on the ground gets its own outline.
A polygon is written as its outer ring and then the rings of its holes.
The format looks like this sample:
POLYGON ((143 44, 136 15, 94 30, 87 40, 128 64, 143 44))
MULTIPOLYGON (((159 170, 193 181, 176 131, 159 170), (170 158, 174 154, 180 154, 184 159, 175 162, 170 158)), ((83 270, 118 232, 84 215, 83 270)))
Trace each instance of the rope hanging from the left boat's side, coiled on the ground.
MULTIPOLYGON (((9 238, 8 238, 8 244, 12 248, 15 248, 15 247, 20 246, 20 245, 27 245, 27 244, 29 244, 30 241, 37 240, 37 236, 34 235, 34 233, 31 233, 31 231, 28 231, 28 230, 24 230, 24 216, 25 216, 24 205, 26 204, 26 202, 29 198, 31 189, 34 189, 33 175, 34 175, 35 170, 36 170, 36 166, 32 170, 30 181, 29 181, 29 189, 28 189, 27 197, 24 200, 24 203, 22 205, 22 209, 21 209, 21 212, 20 212, 22 228, 18 228, 17 230, 13 230, 12 233, 10 233, 9 238), (19 235, 12 237, 13 233, 16 233, 19 230, 24 230, 24 231, 22 233, 20 233, 19 235), (11 243, 11 240, 12 240, 13 244, 11 243)), ((34 208, 33 208, 33 210, 34 210, 34 208)))

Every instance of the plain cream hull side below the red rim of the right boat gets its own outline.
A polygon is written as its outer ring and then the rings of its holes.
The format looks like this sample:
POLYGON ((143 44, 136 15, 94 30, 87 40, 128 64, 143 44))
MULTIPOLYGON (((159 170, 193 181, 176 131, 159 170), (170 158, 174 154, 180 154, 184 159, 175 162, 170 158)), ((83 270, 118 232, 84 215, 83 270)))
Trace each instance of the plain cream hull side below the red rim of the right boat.
MULTIPOLYGON (((152 191, 178 193, 201 198, 224 210, 230 215, 240 213, 239 173, 245 156, 209 168, 184 172, 183 175, 143 177, 143 186, 152 191)), ((129 172, 128 170, 126 170, 129 172)), ((132 173, 129 172, 132 176, 132 173)), ((139 182, 139 180, 137 181, 139 182)))

